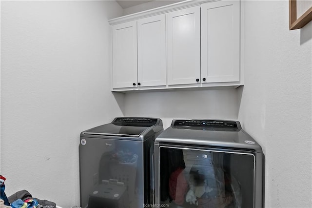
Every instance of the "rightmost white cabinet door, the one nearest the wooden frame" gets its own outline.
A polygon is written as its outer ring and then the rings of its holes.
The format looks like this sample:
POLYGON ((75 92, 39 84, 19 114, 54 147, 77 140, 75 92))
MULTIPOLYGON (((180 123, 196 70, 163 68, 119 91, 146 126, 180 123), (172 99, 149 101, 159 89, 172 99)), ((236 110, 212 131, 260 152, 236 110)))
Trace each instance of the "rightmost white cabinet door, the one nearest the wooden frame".
POLYGON ((239 31, 238 0, 201 5, 201 77, 205 82, 239 82, 239 31))

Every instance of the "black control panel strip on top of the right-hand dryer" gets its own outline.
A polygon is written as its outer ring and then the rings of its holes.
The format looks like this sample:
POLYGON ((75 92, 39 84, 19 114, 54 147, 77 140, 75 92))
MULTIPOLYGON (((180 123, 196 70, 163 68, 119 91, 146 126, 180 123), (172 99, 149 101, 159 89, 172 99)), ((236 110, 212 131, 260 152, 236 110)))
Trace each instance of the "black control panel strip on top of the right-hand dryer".
POLYGON ((191 119, 191 120, 176 120, 173 126, 206 126, 206 127, 222 127, 222 128, 237 128, 235 121, 222 120, 206 120, 206 119, 191 119))

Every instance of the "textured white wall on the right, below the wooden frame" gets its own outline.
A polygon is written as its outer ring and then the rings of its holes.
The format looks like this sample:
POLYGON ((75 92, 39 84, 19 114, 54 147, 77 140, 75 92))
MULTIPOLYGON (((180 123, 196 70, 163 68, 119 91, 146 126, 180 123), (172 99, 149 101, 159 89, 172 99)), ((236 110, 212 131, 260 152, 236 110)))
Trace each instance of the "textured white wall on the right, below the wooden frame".
POLYGON ((266 156, 266 208, 312 207, 312 22, 289 31, 288 1, 245 1, 238 119, 266 156))

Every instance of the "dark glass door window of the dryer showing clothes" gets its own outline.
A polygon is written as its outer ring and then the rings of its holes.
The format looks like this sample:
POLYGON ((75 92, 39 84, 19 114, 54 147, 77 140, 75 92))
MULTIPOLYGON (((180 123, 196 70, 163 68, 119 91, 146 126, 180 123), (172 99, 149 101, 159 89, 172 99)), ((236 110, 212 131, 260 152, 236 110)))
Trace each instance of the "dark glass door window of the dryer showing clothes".
POLYGON ((159 198, 171 208, 253 208, 254 154, 161 146, 159 198))

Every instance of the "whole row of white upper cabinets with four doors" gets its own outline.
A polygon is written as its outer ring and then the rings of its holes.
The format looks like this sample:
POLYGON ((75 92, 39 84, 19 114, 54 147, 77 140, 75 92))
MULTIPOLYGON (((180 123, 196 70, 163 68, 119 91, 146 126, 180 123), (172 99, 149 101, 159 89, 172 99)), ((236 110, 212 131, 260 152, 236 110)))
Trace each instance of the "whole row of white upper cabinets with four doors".
POLYGON ((110 20, 113 91, 243 85, 240 4, 187 0, 110 20))

